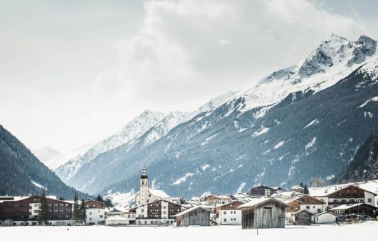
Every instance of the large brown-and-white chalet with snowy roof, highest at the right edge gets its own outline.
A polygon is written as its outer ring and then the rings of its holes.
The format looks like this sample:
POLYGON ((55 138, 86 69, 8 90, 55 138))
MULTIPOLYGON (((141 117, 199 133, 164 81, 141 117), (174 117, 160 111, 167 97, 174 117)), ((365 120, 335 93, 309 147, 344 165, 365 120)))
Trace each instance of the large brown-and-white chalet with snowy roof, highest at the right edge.
POLYGON ((340 205, 353 205, 356 203, 366 203, 374 206, 376 193, 362 189, 357 185, 347 185, 346 187, 310 189, 310 195, 322 200, 329 208, 340 205))

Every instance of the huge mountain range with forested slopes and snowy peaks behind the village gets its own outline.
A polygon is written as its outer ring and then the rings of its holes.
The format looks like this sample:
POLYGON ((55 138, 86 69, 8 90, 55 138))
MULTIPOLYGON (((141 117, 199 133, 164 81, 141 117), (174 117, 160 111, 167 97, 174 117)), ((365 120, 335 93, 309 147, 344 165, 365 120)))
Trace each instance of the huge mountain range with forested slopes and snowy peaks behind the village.
POLYGON ((145 166, 155 187, 188 197, 332 180, 378 127, 376 49, 368 36, 332 34, 300 63, 196 112, 144 112, 120 131, 127 138, 98 143, 56 174, 89 193, 127 192, 145 166))

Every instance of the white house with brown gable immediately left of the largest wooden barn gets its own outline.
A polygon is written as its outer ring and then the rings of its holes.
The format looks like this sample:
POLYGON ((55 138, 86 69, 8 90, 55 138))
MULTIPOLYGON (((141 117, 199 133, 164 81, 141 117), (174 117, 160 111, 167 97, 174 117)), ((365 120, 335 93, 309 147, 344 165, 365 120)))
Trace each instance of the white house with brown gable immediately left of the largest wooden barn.
POLYGON ((245 201, 234 200, 216 207, 216 223, 219 225, 241 224, 241 209, 236 208, 244 203, 245 201))

